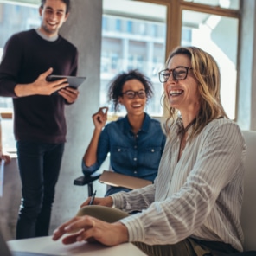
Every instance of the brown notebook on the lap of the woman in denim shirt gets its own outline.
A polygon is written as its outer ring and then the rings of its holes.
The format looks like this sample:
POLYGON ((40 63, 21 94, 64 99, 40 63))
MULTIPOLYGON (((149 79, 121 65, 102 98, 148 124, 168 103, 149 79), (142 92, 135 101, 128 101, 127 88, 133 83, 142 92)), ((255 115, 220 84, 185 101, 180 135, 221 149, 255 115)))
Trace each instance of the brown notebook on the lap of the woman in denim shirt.
POLYGON ((102 172, 102 175, 99 176, 99 182, 106 183, 113 187, 123 187, 127 189, 140 189, 152 184, 152 182, 148 180, 126 176, 110 170, 104 170, 102 172))

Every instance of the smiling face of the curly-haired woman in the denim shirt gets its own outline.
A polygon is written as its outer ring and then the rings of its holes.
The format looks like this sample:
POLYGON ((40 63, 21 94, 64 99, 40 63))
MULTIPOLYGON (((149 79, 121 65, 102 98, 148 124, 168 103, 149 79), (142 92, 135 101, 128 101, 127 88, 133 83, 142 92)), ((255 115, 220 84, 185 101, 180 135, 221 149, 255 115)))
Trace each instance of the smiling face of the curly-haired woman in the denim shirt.
POLYGON ((144 85, 141 81, 132 79, 125 82, 123 96, 119 97, 119 103, 125 106, 126 111, 132 115, 144 113, 147 102, 144 85))

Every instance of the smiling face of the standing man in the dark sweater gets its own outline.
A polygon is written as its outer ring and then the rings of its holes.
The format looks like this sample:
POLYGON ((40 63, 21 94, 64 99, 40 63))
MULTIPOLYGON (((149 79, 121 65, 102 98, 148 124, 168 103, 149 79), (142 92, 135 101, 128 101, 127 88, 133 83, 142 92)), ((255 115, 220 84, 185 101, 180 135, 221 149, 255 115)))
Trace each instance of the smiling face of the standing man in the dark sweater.
POLYGON ((39 8, 42 17, 40 31, 47 36, 57 35, 62 24, 66 22, 66 3, 61 0, 46 0, 43 7, 39 8))

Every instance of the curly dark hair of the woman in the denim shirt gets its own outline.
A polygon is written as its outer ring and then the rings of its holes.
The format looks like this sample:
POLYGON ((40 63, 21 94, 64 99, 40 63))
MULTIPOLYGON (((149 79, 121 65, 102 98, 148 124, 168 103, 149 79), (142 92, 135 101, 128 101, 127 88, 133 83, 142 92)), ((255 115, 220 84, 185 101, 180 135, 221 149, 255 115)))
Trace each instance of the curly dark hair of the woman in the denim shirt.
POLYGON ((132 79, 139 80, 144 85, 147 99, 152 98, 153 86, 148 77, 139 72, 138 69, 122 72, 115 76, 109 83, 108 100, 109 102, 113 102, 115 112, 119 109, 118 97, 123 96, 122 92, 125 82, 132 79))

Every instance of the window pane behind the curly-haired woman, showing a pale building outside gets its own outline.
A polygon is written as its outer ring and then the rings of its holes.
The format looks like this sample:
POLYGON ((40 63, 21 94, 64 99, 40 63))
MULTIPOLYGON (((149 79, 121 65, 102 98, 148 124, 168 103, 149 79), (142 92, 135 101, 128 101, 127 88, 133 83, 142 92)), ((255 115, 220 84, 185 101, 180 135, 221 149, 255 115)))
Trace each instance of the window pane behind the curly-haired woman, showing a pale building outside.
MULTIPOLYGON (((137 68, 150 77, 155 88, 154 98, 150 100, 146 111, 150 115, 161 116, 163 85, 158 81, 157 74, 165 61, 166 6, 138 1, 103 0, 103 8, 104 20, 122 22, 126 24, 126 29, 117 33, 111 29, 102 30, 100 106, 107 106, 109 81, 120 72, 137 68), (111 61, 107 61, 108 58, 111 61), (114 68, 106 68, 106 63, 112 63, 114 68)), ((114 114, 112 106, 109 106, 109 113, 114 114)))

